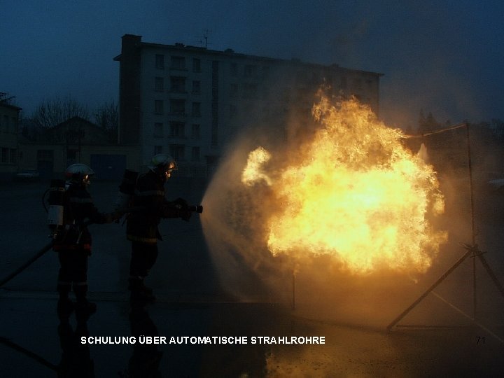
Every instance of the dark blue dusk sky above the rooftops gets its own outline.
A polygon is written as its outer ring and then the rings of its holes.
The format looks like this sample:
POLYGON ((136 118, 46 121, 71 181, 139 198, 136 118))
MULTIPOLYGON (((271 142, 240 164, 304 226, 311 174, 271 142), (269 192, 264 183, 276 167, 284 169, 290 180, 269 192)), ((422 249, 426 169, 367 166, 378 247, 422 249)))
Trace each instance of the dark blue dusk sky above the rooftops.
POLYGON ((123 34, 384 73, 381 118, 504 120, 503 1, 0 0, 0 92, 30 116, 118 95, 123 34), (294 4, 294 5, 293 5, 294 4))

